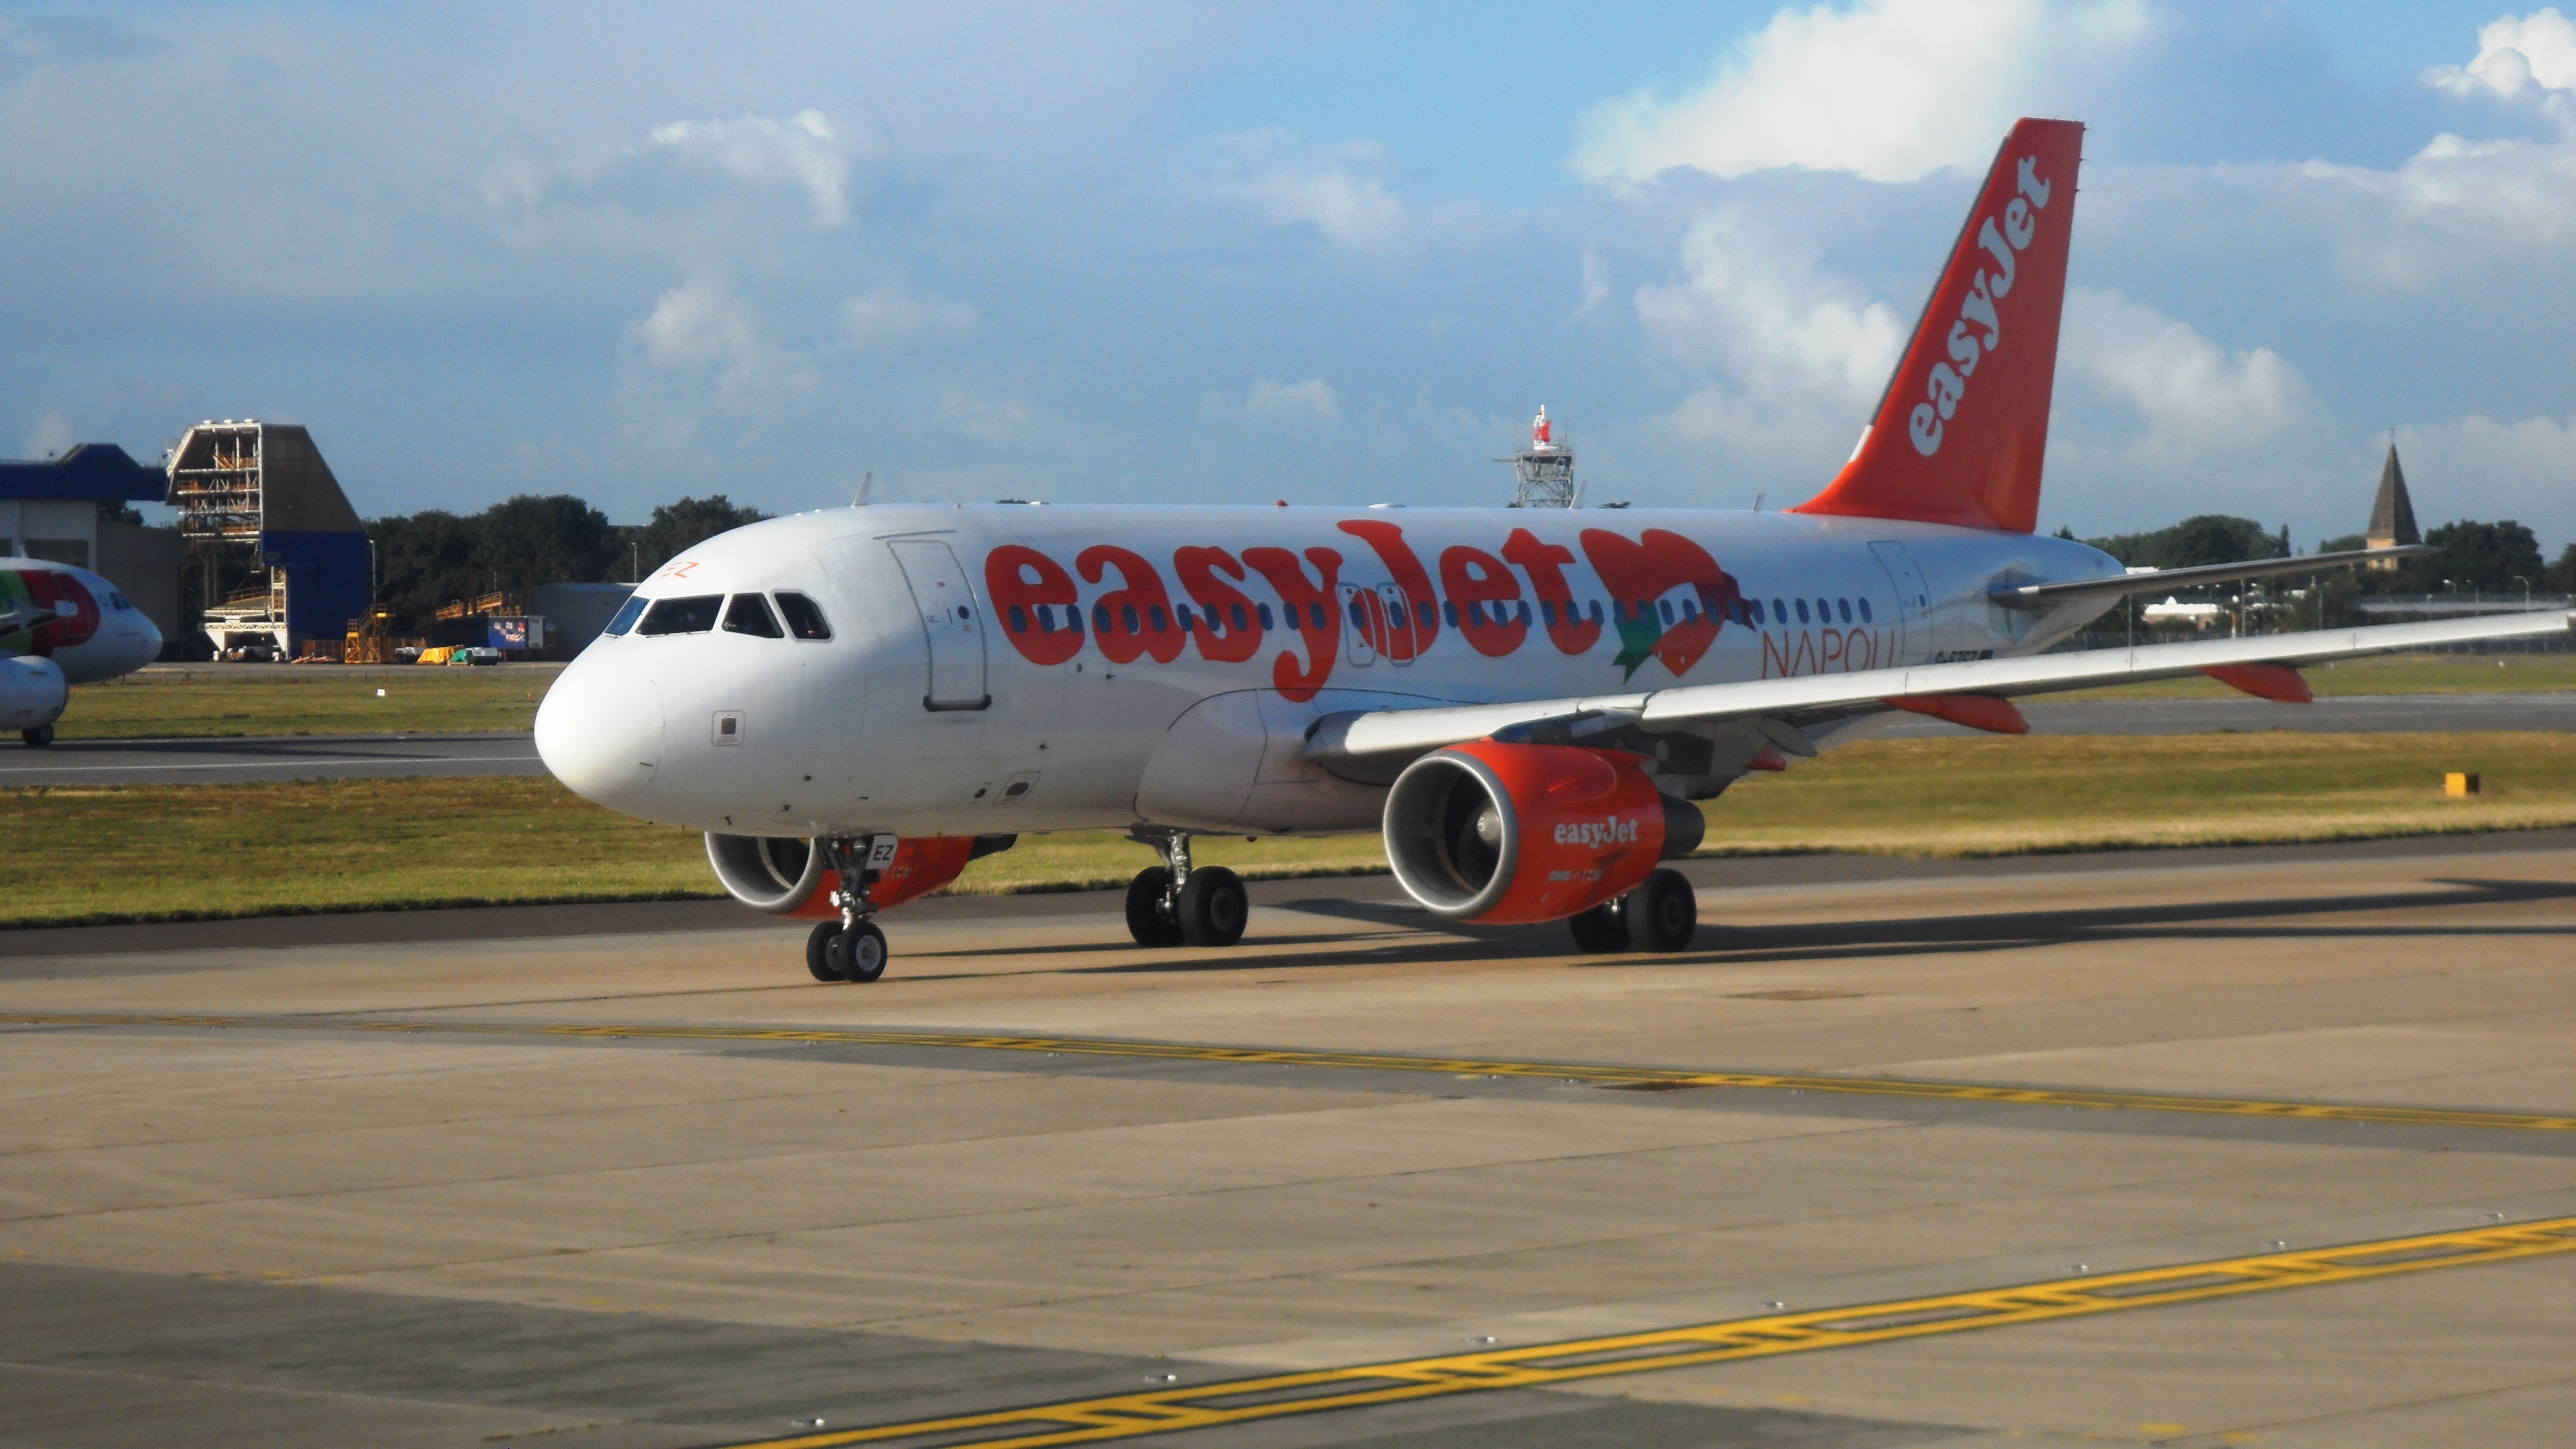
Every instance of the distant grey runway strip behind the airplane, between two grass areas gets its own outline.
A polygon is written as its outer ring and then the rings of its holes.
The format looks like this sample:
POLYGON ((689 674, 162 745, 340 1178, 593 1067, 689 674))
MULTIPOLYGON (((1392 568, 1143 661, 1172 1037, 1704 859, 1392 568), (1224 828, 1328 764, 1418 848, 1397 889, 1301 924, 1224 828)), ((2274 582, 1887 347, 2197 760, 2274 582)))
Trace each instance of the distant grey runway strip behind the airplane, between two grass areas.
MULTIPOLYGON (((2208 735, 2221 730, 2442 732, 2576 730, 2576 694, 2380 694, 2269 704, 2264 699, 2079 699, 2022 704, 2032 735, 2208 735)), ((1886 740, 1973 735, 1901 717, 1886 740)), ((528 776, 546 773, 533 735, 296 735, 252 740, 57 740, 0 748, 0 789, 36 784, 211 784, 278 779, 528 776)))

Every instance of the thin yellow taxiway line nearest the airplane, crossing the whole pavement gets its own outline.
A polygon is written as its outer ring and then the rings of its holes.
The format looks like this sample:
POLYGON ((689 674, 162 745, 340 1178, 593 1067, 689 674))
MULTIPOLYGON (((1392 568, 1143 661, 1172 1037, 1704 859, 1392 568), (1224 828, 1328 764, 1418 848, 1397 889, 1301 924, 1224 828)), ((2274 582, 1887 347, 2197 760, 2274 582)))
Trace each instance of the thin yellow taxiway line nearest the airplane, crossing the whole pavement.
POLYGON ((1144 1057, 1159 1062, 1236 1062, 1275 1067, 1345 1067, 1363 1073, 1432 1073, 1453 1078, 1538 1078, 1631 1091, 1752 1088, 1919 1101, 1999 1101, 2084 1111, 2192 1111, 2210 1116, 2275 1116, 2298 1122, 2367 1122, 2380 1127, 2486 1127, 2576 1132, 2576 1116, 2537 1111, 2460 1111, 2447 1106, 2349 1106, 2329 1101, 2262 1101, 2166 1096, 2138 1091, 2020 1088, 1917 1078, 1829 1078, 1790 1073, 1700 1073, 1690 1067, 1600 1067, 1566 1062, 1489 1062, 1476 1057, 1394 1057, 1378 1052, 1296 1052, 1278 1047, 1190 1047, 1182 1042, 1115 1042, 1095 1036, 987 1036, 974 1031, 827 1031, 809 1026, 572 1026, 549 1021, 402 1021, 358 1016, 144 1016, 113 1011, 8 1011, 0 1026, 180 1026, 258 1031, 397 1031, 440 1036, 592 1036, 649 1042, 811 1042, 822 1047, 948 1047, 966 1052, 1051 1052, 1066 1057, 1144 1057))

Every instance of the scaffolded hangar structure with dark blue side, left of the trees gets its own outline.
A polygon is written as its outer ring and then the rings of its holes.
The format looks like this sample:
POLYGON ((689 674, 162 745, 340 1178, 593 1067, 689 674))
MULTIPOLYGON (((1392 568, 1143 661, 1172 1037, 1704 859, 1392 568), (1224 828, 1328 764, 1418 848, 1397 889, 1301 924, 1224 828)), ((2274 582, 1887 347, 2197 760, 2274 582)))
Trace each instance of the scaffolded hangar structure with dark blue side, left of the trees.
POLYGON ((366 531, 312 433, 206 420, 180 436, 162 472, 216 650, 286 660, 348 634, 371 593, 366 531))

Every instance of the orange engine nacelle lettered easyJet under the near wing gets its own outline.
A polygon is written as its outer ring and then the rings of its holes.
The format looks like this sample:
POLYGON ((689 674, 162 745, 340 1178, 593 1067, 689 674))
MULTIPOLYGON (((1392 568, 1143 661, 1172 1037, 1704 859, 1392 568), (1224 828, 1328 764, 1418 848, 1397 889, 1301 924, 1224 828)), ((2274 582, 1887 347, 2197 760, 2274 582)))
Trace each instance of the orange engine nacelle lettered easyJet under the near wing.
POLYGON ((1471 740, 1386 792, 1386 861, 1435 915, 1564 920, 1700 848, 1700 807, 1654 789, 1638 755, 1471 740))

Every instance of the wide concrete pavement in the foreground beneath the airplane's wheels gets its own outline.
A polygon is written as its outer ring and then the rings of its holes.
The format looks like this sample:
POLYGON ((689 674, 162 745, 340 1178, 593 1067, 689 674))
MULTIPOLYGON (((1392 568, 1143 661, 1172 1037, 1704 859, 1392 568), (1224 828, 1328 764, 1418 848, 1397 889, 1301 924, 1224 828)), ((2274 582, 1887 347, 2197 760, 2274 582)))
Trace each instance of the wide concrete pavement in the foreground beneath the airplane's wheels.
POLYGON ((1698 861, 1672 957, 1368 879, 1231 951, 943 900, 863 987, 747 913, 49 933, 0 1421, 2563 1441, 2576 838, 2148 856, 1698 861))

